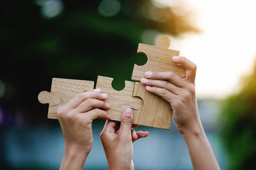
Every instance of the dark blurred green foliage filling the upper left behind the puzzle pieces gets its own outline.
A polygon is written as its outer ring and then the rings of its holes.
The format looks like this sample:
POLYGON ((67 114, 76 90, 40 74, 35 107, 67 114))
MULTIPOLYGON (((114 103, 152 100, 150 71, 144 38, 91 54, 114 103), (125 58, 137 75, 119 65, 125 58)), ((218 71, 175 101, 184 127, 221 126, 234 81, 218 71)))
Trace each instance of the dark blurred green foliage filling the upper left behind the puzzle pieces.
POLYGON ((21 124, 45 123, 47 105, 39 104, 37 95, 50 91, 52 77, 96 82, 97 75, 103 75, 113 77, 113 87, 122 89, 124 81, 131 80, 134 63, 147 61, 143 54, 136 54, 143 35, 151 40, 147 43, 154 43, 157 33, 198 32, 188 20, 189 13, 177 15, 172 8, 157 7, 148 0, 115 0, 120 10, 110 13, 111 17, 102 13, 111 12, 113 6, 109 10, 106 1, 100 13, 100 3, 1 2, 0 81, 5 91, 0 106, 14 121, 19 117, 21 124), (145 35, 148 30, 151 35, 145 35))

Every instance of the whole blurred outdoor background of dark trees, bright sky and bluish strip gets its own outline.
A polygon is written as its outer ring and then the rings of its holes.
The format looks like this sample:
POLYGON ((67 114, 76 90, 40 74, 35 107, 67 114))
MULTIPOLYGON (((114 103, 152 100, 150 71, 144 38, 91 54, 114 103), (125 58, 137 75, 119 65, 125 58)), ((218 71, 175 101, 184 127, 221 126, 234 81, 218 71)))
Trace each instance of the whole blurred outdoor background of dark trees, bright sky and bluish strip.
MULTIPOLYGON (((253 0, 3 1, 0 6, 0 169, 58 169, 64 141, 48 105, 37 100, 52 77, 131 80, 138 43, 169 36, 198 66, 200 118, 221 169, 253 169, 256 160, 256 3, 253 0)), ((93 122, 86 169, 107 169, 93 122)), ((193 169, 182 136, 139 127, 136 169, 193 169)))

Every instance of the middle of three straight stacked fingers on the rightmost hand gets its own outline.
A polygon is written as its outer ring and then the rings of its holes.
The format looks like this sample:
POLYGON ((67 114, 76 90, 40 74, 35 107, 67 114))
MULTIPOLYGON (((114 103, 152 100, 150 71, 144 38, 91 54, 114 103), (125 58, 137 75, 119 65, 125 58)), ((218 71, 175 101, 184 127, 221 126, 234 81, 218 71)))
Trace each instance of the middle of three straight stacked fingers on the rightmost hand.
POLYGON ((157 88, 165 88, 168 89, 168 91, 171 91, 173 94, 177 95, 180 93, 180 88, 172 84, 168 81, 159 81, 159 80, 152 80, 152 79, 146 79, 142 78, 141 83, 145 86, 155 86, 157 88))

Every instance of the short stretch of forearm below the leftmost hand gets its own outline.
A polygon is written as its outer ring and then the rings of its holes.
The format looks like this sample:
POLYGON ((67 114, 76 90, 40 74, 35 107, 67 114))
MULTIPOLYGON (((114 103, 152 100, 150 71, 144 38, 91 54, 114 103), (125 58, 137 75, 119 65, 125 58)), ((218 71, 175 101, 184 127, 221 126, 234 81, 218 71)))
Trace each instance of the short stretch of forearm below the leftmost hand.
POLYGON ((76 148, 65 147, 60 169, 83 169, 88 154, 76 148))

